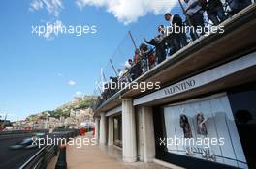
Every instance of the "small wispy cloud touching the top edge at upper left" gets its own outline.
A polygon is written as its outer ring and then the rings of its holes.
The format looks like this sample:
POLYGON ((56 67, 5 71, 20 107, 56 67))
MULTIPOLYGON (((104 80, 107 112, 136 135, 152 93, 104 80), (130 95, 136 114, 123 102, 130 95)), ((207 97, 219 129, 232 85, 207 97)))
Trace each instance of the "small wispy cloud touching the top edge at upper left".
POLYGON ((29 9, 31 11, 46 9, 48 14, 57 17, 63 8, 62 0, 32 0, 29 9))

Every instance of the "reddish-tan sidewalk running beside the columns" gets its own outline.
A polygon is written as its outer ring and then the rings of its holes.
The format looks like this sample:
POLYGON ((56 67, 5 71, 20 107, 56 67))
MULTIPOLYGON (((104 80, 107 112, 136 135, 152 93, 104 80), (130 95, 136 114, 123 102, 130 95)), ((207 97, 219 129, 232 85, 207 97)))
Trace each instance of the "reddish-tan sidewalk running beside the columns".
MULTIPOLYGON (((90 136, 85 136, 90 137, 90 136)), ((79 138, 79 137, 78 137, 79 138)), ((48 164, 48 169, 54 169, 57 156, 48 164)), ((100 146, 67 146, 68 169, 167 169, 155 163, 124 163, 122 153, 115 147, 100 146)))

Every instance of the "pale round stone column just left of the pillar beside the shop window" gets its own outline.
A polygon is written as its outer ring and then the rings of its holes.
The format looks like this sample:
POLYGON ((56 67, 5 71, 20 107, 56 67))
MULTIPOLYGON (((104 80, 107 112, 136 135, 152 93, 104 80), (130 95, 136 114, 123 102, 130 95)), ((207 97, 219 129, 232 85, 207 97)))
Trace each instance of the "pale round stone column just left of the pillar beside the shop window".
POLYGON ((123 161, 137 160, 135 112, 132 99, 122 99, 123 161))

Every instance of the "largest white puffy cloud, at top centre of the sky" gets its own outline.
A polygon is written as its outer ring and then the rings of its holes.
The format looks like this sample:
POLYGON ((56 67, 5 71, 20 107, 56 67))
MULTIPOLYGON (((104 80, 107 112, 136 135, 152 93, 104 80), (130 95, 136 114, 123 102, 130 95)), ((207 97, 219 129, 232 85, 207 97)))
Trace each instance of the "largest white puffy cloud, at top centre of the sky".
POLYGON ((86 6, 102 7, 125 24, 134 22, 147 13, 170 12, 176 3, 177 0, 76 0, 80 9, 86 6))

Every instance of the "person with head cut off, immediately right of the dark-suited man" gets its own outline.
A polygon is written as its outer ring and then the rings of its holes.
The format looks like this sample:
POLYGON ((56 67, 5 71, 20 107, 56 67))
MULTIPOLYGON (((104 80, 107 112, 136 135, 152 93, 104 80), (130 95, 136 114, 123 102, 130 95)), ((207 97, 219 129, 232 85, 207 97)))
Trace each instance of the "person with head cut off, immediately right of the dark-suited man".
MULTIPOLYGON (((197 37, 199 37, 199 35, 197 34, 197 29, 201 28, 201 30, 204 30, 204 27, 205 27, 203 10, 198 0, 184 0, 184 1, 187 5, 184 13, 188 16, 188 19, 190 20, 191 25, 189 26, 193 27, 193 30, 190 30, 190 36, 194 41, 197 39, 197 37)), ((202 31, 202 34, 204 34, 204 31, 202 31)))

